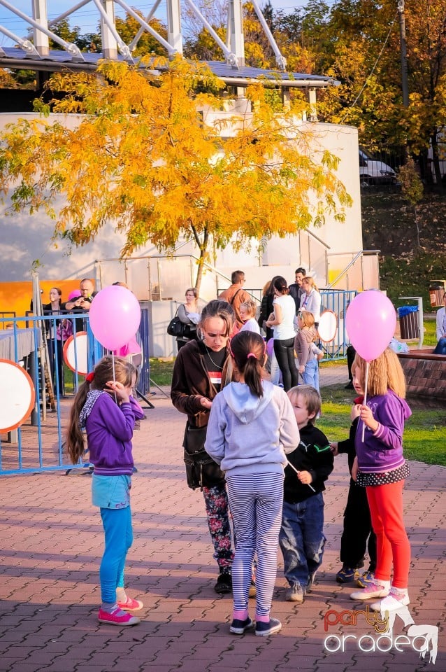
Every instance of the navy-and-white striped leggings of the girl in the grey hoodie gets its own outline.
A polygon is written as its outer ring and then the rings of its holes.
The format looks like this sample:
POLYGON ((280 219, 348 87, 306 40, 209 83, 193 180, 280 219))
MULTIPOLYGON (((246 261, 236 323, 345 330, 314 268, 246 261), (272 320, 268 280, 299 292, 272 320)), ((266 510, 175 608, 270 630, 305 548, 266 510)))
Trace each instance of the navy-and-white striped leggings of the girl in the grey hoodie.
POLYGON ((257 553, 256 616, 269 615, 278 568, 283 478, 275 473, 226 476, 237 538, 232 566, 235 612, 247 612, 252 561, 257 553))

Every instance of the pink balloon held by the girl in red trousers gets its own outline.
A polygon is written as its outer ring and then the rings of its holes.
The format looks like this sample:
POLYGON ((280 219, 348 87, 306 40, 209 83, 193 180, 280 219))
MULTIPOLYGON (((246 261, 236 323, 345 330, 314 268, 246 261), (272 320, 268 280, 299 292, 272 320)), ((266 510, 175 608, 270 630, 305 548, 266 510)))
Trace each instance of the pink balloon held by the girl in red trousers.
POLYGON ((396 311, 385 294, 373 289, 357 294, 347 308, 345 328, 359 356, 371 362, 394 336, 396 311))

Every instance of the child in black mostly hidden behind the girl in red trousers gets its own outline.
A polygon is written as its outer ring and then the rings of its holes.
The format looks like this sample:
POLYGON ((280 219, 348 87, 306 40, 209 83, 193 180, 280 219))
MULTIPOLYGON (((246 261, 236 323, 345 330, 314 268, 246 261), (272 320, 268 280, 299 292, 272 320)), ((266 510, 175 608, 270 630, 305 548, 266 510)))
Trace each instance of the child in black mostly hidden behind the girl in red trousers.
POLYGON ((376 567, 376 536, 372 529, 370 510, 366 489, 352 479, 352 466, 356 457, 354 449, 354 435, 359 422, 359 405, 364 400, 364 390, 361 389, 352 367, 352 386, 359 396, 354 399, 350 426, 350 435, 345 441, 330 442, 333 455, 347 453, 348 470, 350 471, 350 486, 348 489, 347 504, 344 510, 344 528, 340 538, 340 561, 343 566, 336 574, 338 583, 355 581, 359 588, 366 588, 373 581, 376 567), (368 550, 370 566, 362 575, 359 568, 364 567, 364 554, 368 550))

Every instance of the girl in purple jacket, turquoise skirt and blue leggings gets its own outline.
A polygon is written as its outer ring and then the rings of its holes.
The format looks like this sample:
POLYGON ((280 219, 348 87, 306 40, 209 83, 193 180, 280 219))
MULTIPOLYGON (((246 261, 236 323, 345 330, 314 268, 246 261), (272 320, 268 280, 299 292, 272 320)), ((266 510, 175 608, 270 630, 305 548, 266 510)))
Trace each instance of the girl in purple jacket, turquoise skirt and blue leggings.
POLYGON ((135 419, 141 419, 143 412, 131 396, 136 384, 136 368, 121 357, 114 360, 113 366, 113 358, 101 359, 75 395, 67 449, 72 463, 77 464, 88 448, 89 461, 94 465, 92 500, 101 510, 105 534, 99 568, 102 599, 99 622, 127 626, 140 622, 129 612, 143 607, 142 602, 129 598, 124 589, 124 563, 133 542, 131 439, 135 419))

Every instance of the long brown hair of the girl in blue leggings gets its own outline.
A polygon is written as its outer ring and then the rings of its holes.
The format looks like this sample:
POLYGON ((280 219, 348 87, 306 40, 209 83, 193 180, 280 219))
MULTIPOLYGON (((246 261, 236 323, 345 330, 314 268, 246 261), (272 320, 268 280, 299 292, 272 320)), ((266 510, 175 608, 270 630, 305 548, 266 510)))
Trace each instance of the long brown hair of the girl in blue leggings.
POLYGON ((85 435, 80 428, 79 416, 89 390, 109 389, 107 383, 113 379, 122 383, 124 387, 130 387, 135 375, 138 376, 138 370, 133 364, 122 357, 115 357, 115 375, 113 376, 113 358, 106 356, 94 367, 94 378, 91 383, 88 380, 82 383, 71 406, 66 430, 66 449, 73 464, 77 464, 85 452, 85 435))

